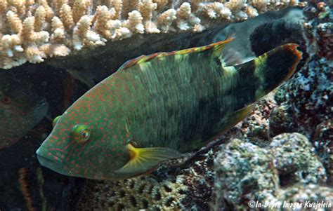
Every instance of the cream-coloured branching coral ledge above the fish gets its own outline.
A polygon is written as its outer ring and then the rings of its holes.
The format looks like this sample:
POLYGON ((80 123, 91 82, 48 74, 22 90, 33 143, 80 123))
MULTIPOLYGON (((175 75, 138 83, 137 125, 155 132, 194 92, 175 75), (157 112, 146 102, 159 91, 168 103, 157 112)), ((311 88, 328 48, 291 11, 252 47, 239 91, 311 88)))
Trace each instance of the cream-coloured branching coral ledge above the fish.
POLYGON ((83 48, 132 34, 202 32, 221 22, 238 22, 298 1, 54 0, 0 1, 0 68, 83 48))

